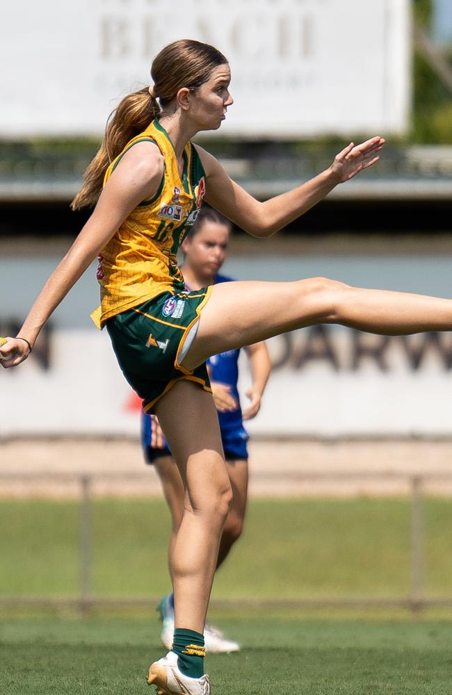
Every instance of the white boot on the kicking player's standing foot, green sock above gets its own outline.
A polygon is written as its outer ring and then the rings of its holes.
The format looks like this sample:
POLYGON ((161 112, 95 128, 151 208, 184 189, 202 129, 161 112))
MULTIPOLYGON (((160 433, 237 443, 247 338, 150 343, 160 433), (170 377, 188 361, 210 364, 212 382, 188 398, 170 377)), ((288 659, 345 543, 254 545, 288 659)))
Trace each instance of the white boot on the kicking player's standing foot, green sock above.
POLYGON ((147 682, 156 686, 158 695, 210 695, 207 673, 201 678, 184 676, 177 666, 177 654, 172 651, 151 664, 147 682))

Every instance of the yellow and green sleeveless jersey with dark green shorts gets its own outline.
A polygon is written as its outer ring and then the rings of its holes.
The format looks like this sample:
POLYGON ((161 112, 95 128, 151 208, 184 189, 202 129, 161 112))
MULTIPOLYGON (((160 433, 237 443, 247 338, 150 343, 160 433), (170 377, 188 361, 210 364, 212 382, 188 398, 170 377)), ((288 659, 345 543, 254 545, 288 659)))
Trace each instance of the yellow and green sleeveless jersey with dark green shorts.
POLYGON ((150 411, 178 379, 210 391, 205 365, 181 367, 181 352, 211 288, 187 293, 177 250, 194 224, 205 192, 205 174, 195 147, 184 149, 179 174, 172 142, 158 120, 130 140, 106 170, 104 185, 136 142, 151 141, 164 158, 154 197, 138 205, 99 254, 101 306, 92 314, 106 326, 122 371, 150 411))

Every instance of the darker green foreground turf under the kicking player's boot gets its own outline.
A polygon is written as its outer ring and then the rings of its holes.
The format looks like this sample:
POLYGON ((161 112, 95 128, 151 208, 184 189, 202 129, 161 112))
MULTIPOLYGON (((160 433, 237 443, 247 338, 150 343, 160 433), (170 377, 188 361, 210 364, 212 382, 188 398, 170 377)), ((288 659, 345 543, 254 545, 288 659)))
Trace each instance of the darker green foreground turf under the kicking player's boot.
MULTIPOLYGON (((450 695, 452 623, 219 618, 243 649, 211 655, 213 695, 450 695)), ((0 624, 5 695, 154 694, 154 620, 40 619, 0 624)))

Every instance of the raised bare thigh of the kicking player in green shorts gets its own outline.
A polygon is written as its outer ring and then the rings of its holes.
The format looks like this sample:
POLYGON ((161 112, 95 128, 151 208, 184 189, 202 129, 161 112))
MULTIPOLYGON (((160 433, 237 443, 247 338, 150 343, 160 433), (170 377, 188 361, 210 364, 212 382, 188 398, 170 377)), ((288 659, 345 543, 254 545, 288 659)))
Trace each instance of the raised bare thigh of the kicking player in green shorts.
POLYGON ((344 288, 324 278, 214 285, 183 365, 193 369, 212 354, 334 320, 334 295, 344 288))

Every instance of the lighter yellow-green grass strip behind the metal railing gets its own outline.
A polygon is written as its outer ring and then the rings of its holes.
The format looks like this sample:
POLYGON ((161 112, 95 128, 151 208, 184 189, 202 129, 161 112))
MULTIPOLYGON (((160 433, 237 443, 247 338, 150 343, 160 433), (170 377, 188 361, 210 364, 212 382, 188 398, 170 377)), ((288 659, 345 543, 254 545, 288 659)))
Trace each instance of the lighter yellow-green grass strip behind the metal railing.
MULTIPOLYGON (((429 498, 423 509, 423 589, 452 596, 452 500, 429 498)), ((163 500, 95 500, 92 595, 166 593, 168 534, 163 500)), ((0 500, 0 558, 0 595, 76 596, 78 503, 0 500)), ((297 600, 406 596, 409 589, 409 500, 252 499, 213 596, 297 600)))

